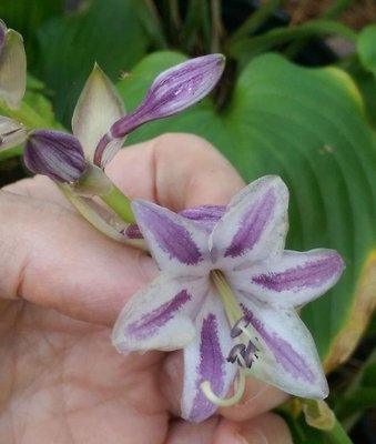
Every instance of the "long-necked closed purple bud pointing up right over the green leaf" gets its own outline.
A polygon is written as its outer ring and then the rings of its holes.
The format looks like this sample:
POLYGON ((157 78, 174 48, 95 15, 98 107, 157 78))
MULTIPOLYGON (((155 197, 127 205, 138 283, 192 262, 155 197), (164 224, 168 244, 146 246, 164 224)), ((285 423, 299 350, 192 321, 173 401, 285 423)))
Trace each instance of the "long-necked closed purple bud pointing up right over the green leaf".
POLYGON ((225 58, 209 54, 191 59, 162 72, 153 81, 146 97, 139 108, 119 119, 108 134, 99 142, 94 163, 103 167, 119 150, 113 141, 122 139, 131 131, 151 120, 176 114, 207 95, 220 80, 225 58), (111 155, 106 153, 111 151, 111 155))

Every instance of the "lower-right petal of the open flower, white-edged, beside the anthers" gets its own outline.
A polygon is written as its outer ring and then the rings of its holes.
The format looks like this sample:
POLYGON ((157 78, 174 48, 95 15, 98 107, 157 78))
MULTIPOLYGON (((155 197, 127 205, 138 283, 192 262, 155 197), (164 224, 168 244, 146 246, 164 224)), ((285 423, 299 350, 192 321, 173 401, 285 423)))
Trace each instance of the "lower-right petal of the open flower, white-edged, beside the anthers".
POLYGON ((251 374, 296 396, 326 397, 327 382, 315 343, 295 310, 276 310, 244 295, 240 300, 257 347, 251 374))

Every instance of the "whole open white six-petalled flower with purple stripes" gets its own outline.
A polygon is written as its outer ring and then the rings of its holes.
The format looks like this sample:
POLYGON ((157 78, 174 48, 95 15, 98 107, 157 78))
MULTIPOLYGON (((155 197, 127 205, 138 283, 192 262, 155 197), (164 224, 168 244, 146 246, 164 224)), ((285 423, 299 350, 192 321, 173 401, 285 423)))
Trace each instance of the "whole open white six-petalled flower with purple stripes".
POLYGON ((203 421, 237 373, 323 398, 327 383, 295 307, 333 286, 333 250, 284 250, 288 192, 265 176, 227 209, 175 214, 145 201, 133 211, 161 274, 128 302, 113 331, 121 353, 184 349, 182 416, 203 421))

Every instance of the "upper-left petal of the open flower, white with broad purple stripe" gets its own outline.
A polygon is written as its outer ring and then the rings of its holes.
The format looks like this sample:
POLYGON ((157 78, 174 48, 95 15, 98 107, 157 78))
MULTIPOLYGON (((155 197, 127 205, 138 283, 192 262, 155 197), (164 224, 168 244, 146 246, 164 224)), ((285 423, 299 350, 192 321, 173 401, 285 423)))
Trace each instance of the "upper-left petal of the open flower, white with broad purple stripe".
POLYGON ((183 275, 202 275, 205 272, 209 234, 204 226, 146 201, 133 201, 132 209, 162 270, 183 275))

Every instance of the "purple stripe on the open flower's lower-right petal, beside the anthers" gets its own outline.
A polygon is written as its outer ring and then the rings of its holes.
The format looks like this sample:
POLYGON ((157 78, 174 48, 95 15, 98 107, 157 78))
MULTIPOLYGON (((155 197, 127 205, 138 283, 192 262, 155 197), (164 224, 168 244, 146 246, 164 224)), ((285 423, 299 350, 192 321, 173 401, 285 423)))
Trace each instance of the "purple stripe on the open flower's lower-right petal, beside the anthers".
POLYGON ((309 383, 316 381, 315 374, 312 372, 305 360, 295 352, 291 344, 278 337, 276 333, 268 333, 264 329, 264 324, 252 313, 251 310, 242 305, 244 314, 260 336, 264 340, 270 347, 275 360, 296 379, 303 379, 309 383))

